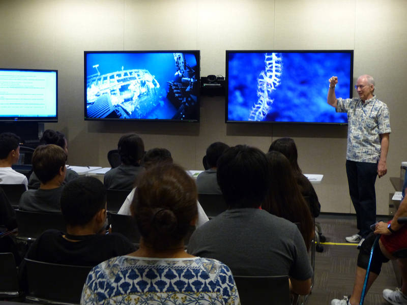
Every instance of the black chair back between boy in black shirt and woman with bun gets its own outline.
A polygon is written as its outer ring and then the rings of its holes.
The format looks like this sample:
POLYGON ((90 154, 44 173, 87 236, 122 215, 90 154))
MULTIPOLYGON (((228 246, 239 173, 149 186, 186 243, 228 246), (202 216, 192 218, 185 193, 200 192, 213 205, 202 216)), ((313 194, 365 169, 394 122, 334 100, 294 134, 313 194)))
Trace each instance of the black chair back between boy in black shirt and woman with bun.
POLYGON ((121 233, 135 244, 140 242, 140 232, 138 231, 137 223, 134 217, 129 215, 115 214, 107 212, 111 231, 121 233))

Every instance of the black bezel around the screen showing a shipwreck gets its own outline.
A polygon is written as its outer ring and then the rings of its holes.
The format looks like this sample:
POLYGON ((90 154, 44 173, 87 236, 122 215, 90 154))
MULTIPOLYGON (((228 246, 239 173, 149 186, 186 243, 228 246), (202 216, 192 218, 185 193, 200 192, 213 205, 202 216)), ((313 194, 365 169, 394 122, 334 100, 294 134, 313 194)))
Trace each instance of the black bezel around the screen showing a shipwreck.
POLYGON ((198 89, 197 91, 197 114, 198 117, 197 119, 186 119, 186 120, 181 120, 181 119, 167 119, 167 118, 100 118, 100 117, 88 117, 87 116, 87 109, 86 109, 86 104, 87 104, 87 95, 88 92, 86 90, 87 87, 87 81, 86 81, 86 67, 87 67, 87 59, 86 55, 87 54, 106 54, 106 53, 194 53, 196 54, 196 66, 198 67, 198 75, 196 76, 197 79, 197 86, 200 88, 200 50, 135 50, 135 51, 83 51, 83 117, 84 120, 96 120, 96 121, 160 121, 160 122, 186 122, 186 123, 199 123, 200 120, 200 90, 198 89))

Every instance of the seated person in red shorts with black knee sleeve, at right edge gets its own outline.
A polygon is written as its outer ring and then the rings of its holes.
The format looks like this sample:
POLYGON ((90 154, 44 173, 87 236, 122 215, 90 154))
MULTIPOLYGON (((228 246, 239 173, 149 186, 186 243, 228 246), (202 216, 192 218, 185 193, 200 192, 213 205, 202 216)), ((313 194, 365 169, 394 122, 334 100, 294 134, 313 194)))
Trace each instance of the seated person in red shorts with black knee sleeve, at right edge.
POLYGON ((401 201, 393 219, 387 223, 377 223, 374 232, 370 233, 363 241, 359 250, 352 294, 349 297, 345 296, 341 300, 333 299, 331 301, 332 305, 359 304, 366 276, 366 269, 369 263, 370 251, 376 237, 375 234, 382 235, 379 239, 379 245, 375 247, 373 252, 366 292, 377 277, 379 277, 382 264, 388 262, 390 259, 397 259, 398 265, 401 269, 401 289, 396 289, 395 291, 385 289, 383 290, 383 297, 393 305, 407 304, 407 258, 394 257, 394 254, 398 250, 407 249, 407 225, 398 224, 397 219, 400 217, 407 217, 407 197, 404 197, 401 201))

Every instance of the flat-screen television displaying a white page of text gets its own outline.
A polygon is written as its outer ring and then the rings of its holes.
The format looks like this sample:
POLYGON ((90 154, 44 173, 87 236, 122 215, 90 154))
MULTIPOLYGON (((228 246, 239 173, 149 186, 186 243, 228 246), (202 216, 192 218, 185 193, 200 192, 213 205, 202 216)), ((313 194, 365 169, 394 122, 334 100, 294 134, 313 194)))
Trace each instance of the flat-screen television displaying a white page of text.
POLYGON ((0 120, 58 121, 58 71, 0 68, 0 120))

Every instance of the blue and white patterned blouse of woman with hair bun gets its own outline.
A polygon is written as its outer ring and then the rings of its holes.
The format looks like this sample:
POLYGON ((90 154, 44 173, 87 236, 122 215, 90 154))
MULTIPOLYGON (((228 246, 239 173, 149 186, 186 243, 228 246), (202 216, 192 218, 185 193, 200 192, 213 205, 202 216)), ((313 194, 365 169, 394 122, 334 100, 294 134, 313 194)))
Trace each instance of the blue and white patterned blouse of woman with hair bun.
POLYGON ((91 270, 80 303, 238 305, 240 300, 230 269, 215 259, 119 256, 91 270))

